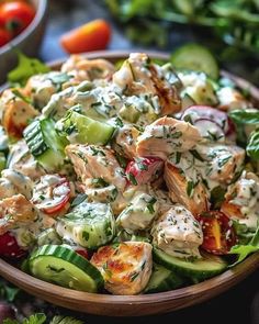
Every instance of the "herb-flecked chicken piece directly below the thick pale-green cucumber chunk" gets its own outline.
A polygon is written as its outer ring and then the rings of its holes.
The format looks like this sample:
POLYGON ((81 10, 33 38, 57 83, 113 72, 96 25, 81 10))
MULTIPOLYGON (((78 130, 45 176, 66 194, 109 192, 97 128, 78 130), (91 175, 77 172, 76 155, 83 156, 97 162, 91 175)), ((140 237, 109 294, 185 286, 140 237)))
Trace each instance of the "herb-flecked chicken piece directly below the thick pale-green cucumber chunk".
POLYGON ((102 179, 123 191, 126 179, 113 150, 98 145, 70 144, 66 154, 71 159, 78 178, 87 185, 88 179, 102 179))

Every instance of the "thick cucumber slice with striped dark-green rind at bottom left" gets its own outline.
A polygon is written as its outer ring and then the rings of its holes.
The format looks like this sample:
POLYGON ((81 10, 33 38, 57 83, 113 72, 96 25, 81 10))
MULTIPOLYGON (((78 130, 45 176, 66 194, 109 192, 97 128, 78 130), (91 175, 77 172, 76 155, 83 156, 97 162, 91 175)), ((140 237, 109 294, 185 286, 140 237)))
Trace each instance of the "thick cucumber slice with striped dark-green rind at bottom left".
POLYGON ((31 255, 30 271, 36 278, 66 288, 97 292, 103 288, 101 272, 75 250, 44 245, 31 255))

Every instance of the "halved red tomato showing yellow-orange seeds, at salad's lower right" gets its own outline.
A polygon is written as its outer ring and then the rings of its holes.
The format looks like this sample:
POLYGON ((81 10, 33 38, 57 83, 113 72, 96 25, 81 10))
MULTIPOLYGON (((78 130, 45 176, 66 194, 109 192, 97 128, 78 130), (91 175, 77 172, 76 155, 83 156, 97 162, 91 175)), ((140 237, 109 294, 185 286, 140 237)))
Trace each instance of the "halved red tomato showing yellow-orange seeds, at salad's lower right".
POLYGON ((222 212, 209 211, 196 216, 202 225, 202 248, 215 254, 225 255, 237 242, 232 221, 222 212))

